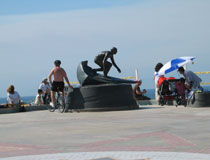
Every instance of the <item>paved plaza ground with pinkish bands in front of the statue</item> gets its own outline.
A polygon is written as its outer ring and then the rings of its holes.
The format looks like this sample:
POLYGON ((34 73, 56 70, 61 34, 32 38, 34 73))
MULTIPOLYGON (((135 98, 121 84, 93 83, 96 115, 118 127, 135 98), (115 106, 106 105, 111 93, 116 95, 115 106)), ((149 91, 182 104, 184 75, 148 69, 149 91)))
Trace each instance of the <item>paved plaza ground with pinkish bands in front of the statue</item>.
POLYGON ((209 160, 209 124, 210 107, 2 114, 0 159, 209 160))

